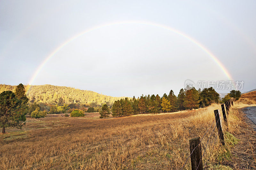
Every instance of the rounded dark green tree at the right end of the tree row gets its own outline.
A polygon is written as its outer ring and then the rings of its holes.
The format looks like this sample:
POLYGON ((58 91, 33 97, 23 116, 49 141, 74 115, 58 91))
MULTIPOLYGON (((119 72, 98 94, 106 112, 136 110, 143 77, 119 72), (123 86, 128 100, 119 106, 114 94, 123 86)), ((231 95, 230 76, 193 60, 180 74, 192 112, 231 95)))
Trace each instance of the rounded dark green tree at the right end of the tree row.
POLYGON ((200 94, 200 106, 206 107, 211 105, 212 103, 219 103, 220 95, 212 88, 203 89, 200 94))

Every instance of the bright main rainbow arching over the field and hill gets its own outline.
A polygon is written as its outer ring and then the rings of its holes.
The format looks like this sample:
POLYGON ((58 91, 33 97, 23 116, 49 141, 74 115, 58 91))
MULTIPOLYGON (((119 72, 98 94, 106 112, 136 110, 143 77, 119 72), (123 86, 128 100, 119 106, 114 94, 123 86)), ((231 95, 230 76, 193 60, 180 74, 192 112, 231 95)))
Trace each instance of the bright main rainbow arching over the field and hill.
MULTIPOLYGON (((68 45, 69 43, 71 43, 72 41, 76 40, 76 38, 89 33, 91 31, 100 29, 100 28, 104 28, 104 27, 109 27, 109 26, 115 26, 115 25, 120 25, 120 24, 141 24, 141 25, 148 25, 148 26, 153 26, 153 27, 159 27, 159 28, 163 28, 169 31, 172 31, 173 33, 176 33, 186 39, 188 39, 189 41, 191 41, 192 43, 196 44, 199 48, 201 48, 206 54, 208 54, 212 60, 220 67, 220 69, 223 71, 223 73, 227 76, 227 78, 229 80, 233 80, 230 73, 228 72, 228 70, 225 68, 225 66, 220 62, 220 60, 215 57, 212 52, 210 50, 208 50, 206 47, 204 47, 201 43, 199 43, 198 41, 196 41, 195 39, 193 39, 192 37, 186 35, 185 33, 176 30, 172 27, 166 26, 166 25, 162 25, 162 24, 158 24, 158 23, 154 23, 154 22, 148 22, 148 21, 122 21, 122 22, 112 22, 112 23, 108 23, 108 24, 103 24, 103 25, 99 25, 99 26, 95 26, 89 29, 84 30, 81 33, 78 33, 76 35, 74 35, 73 37, 71 37, 70 39, 68 39, 67 41, 63 42, 62 44, 60 44, 59 47, 57 47, 55 50, 53 50, 45 59, 44 61, 38 66, 38 68, 36 69, 35 73, 33 74, 33 76, 31 77, 28 85, 31 86, 31 84, 33 83, 33 81, 36 79, 36 76, 40 73, 40 71, 42 70, 42 68, 44 67, 44 65, 62 48, 64 48, 66 45, 68 45)), ((30 88, 29 88, 30 89, 30 88)))

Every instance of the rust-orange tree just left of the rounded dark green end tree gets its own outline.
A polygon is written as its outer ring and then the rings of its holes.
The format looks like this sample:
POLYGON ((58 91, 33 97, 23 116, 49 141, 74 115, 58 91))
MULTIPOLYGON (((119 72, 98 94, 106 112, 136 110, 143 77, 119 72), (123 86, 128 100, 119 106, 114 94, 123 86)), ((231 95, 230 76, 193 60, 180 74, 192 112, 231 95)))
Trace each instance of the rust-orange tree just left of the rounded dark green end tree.
POLYGON ((185 90, 186 98, 184 105, 185 107, 189 108, 192 110, 192 108, 196 109, 199 107, 199 92, 192 87, 190 90, 185 90))

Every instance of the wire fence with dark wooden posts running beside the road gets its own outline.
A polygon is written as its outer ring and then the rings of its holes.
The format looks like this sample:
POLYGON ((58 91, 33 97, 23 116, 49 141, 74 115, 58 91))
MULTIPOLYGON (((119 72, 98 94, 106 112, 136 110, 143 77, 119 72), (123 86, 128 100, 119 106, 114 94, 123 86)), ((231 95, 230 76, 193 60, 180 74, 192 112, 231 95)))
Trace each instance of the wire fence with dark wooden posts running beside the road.
MULTIPOLYGON (((233 105, 233 102, 231 102, 233 105)), ((188 158, 186 159, 184 165, 182 166, 181 169, 183 169, 187 164, 188 164, 188 159, 190 158, 191 160, 191 169, 192 170, 203 170, 203 169, 209 169, 210 167, 208 166, 207 163, 209 163, 212 152, 214 151, 214 148, 216 149, 215 152, 218 153, 218 151, 222 151, 224 153, 224 147, 225 147, 225 140, 224 140, 224 135, 223 135, 223 129, 225 130, 226 128, 228 129, 228 120, 227 120, 227 115, 229 112, 229 108, 231 107, 230 102, 226 102, 225 105, 221 104, 221 111, 223 114, 223 120, 224 123, 221 121, 221 115, 220 115, 220 110, 214 110, 214 115, 215 115, 215 121, 213 120, 211 126, 206 130, 204 133, 203 137, 196 137, 193 139, 189 140, 189 149, 190 149, 190 154, 188 158), (226 111, 225 111, 226 107, 226 111), (216 122, 215 126, 212 128, 212 125, 216 122), (225 126, 224 126, 225 125, 225 126), (216 127, 217 127, 217 133, 216 133, 216 127), (215 133, 214 133, 215 131, 215 133), (206 138, 206 135, 209 134, 209 137, 206 138), (219 140, 216 140, 219 136, 219 140), (206 144, 204 144, 205 141, 206 144), (217 142, 216 142, 217 141, 217 142), (202 154, 202 147, 201 144, 203 145, 203 154, 202 154), (208 145, 209 144, 209 145, 208 145), (211 145, 210 145, 211 144, 211 145), (208 152, 207 152, 207 147, 208 147, 208 152), (206 157, 206 158, 204 158, 206 157), (203 164, 204 161, 204 164, 203 164), (204 166, 203 166, 204 165, 204 166)), ((225 155, 223 156, 223 159, 226 159, 225 155)), ((216 162, 216 158, 212 159, 212 164, 211 166, 214 166, 214 169, 219 169, 219 165, 216 162), (217 165, 215 165, 217 164, 217 165)), ((220 167, 221 168, 221 167, 220 167)))

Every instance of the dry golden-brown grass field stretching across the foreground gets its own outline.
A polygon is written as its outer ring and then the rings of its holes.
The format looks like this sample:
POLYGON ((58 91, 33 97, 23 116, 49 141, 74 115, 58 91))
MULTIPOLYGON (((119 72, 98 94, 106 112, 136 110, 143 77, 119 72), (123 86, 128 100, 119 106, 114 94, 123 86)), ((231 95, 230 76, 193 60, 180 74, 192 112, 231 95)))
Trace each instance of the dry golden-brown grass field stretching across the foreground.
POLYGON ((197 136, 207 169, 256 169, 256 132, 239 110, 245 106, 235 102, 230 110, 225 147, 214 127, 213 110, 221 111, 220 104, 106 120, 28 118, 21 130, 6 128, 0 135, 0 169, 181 169, 186 160, 183 169, 191 169, 189 139, 197 136))

